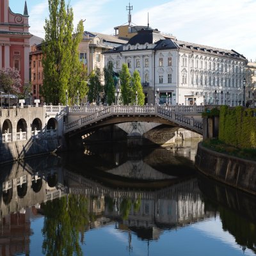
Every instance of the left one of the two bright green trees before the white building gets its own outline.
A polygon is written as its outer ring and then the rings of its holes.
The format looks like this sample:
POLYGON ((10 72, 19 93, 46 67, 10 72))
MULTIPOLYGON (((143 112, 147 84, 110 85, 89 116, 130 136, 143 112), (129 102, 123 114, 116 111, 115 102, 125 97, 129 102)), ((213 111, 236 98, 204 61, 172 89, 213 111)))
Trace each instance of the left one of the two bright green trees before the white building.
POLYGON ((124 105, 131 103, 132 88, 131 88, 131 74, 126 63, 122 65, 120 71, 120 87, 122 93, 122 102, 124 105))

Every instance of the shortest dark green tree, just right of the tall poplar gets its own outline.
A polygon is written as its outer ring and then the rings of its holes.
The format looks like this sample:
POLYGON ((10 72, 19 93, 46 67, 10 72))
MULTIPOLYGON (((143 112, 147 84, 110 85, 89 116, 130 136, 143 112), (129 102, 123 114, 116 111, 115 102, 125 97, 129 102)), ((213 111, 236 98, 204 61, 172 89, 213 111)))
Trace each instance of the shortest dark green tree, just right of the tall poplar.
POLYGON ((89 76, 89 92, 88 99, 90 102, 97 102, 99 104, 102 97, 102 86, 100 84, 99 74, 92 71, 89 76))

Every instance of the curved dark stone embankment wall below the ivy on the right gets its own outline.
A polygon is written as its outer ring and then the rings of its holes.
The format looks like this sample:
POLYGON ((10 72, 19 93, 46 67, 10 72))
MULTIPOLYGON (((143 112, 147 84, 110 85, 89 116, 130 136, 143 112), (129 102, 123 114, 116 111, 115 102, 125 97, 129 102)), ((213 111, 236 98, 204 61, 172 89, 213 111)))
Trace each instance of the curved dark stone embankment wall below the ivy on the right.
POLYGON ((256 161, 214 152, 199 143, 195 166, 209 177, 256 195, 256 161))

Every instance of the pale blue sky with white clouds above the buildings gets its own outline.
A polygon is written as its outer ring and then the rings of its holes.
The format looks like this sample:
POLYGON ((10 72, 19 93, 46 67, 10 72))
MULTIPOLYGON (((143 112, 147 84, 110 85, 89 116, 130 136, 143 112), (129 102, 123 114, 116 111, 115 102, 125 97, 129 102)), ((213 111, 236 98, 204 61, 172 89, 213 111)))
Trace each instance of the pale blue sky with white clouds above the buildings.
MULTIPOLYGON (((9 0, 12 12, 23 13, 24 0, 9 0)), ((113 35, 127 24, 129 0, 67 0, 74 10, 74 26, 113 35)), ((256 61, 256 0, 130 0, 132 24, 157 28, 178 40, 234 49, 256 61)), ((44 38, 47 0, 27 0, 30 32, 44 38)))

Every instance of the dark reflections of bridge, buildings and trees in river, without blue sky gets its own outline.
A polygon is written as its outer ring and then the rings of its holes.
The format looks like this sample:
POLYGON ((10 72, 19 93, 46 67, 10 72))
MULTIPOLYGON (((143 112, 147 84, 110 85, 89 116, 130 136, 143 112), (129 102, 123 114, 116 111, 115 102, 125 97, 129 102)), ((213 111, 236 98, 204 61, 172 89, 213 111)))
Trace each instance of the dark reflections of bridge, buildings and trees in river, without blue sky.
POLYGON ((116 147, 3 166, 2 255, 29 254, 31 220, 40 216, 44 255, 83 255, 84 236, 97 227, 127 232, 130 250, 132 234, 159 241, 164 230, 216 216, 243 250, 256 252, 255 198, 197 178, 193 161, 182 157, 188 147, 139 152, 116 147))

